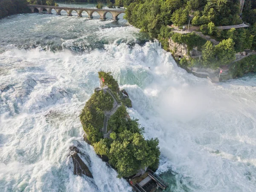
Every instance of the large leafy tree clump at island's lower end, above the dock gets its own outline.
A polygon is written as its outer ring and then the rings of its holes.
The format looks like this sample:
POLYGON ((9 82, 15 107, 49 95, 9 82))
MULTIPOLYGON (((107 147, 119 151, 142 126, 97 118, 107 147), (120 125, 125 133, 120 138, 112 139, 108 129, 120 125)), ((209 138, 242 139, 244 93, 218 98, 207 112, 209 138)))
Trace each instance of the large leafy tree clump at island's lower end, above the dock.
POLYGON ((119 177, 129 177, 149 166, 157 167, 158 143, 157 139, 147 141, 141 134, 125 130, 111 143, 109 162, 116 167, 119 177))

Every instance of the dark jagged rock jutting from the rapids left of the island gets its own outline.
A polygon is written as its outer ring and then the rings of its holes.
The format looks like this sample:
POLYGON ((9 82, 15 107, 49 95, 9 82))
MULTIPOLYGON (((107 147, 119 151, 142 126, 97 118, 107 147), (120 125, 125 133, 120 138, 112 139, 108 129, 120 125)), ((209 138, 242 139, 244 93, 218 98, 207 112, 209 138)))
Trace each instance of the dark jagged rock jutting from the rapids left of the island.
POLYGON ((79 153, 80 151, 76 146, 70 146, 70 157, 72 158, 74 164, 74 175, 86 175, 93 178, 89 168, 81 159, 81 157, 79 157, 79 153))

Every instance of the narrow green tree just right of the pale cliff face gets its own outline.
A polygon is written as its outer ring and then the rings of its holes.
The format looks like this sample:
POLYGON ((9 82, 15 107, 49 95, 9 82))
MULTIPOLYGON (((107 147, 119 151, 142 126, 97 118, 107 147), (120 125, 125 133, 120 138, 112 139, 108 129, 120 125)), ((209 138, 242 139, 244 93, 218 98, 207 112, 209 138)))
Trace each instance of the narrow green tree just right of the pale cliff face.
POLYGON ((203 46, 202 51, 203 65, 209 67, 214 64, 215 61, 215 49, 211 41, 207 41, 203 46))

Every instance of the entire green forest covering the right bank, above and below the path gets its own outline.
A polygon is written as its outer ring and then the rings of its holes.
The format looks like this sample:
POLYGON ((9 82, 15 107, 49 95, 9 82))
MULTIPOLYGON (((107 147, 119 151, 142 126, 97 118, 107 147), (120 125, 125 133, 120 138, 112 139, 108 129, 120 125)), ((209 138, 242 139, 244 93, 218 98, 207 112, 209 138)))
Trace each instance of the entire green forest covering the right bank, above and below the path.
MULTIPOLYGON (((169 50, 169 38, 176 43, 198 47, 201 59, 183 58, 180 65, 217 68, 235 60, 235 53, 256 48, 256 1, 245 0, 240 13, 239 0, 124 0, 125 18, 132 25, 157 38, 169 50), (198 32, 219 41, 217 46, 199 35, 176 34, 170 26, 199 26, 198 32), (220 30, 216 26, 249 23, 249 28, 220 30), (203 44, 204 42, 204 44, 203 44)), ((171 50, 172 51, 172 50, 171 50)))

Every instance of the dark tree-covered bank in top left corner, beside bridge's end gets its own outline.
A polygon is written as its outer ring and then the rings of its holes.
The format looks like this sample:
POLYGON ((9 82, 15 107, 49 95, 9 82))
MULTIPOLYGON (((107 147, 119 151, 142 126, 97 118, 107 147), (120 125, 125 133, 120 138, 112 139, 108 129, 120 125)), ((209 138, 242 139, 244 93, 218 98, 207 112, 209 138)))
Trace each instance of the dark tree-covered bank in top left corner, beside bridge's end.
POLYGON ((6 15, 29 12, 26 0, 0 0, 0 18, 6 15))

